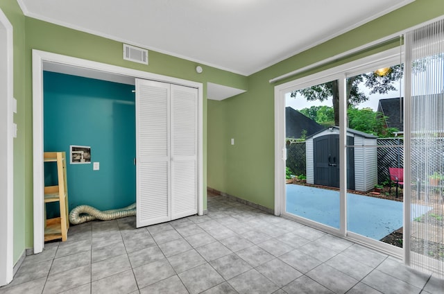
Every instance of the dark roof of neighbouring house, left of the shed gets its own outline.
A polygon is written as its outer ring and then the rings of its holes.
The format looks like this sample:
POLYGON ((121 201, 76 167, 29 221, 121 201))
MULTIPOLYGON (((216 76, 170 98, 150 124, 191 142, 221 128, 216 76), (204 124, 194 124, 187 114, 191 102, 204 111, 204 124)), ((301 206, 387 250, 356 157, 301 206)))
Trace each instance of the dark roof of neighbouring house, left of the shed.
POLYGON ((304 114, 287 106, 285 107, 285 136, 286 138, 300 138, 302 130, 307 130, 307 136, 314 134, 324 127, 304 114))

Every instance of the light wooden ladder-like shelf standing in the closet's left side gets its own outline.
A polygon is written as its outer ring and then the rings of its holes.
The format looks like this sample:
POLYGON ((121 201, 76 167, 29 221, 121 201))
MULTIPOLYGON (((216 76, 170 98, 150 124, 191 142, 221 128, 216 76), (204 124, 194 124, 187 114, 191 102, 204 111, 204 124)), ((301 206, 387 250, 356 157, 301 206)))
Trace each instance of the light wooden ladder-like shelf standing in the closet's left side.
POLYGON ((44 162, 57 163, 58 177, 58 184, 56 186, 44 187, 44 202, 59 202, 60 206, 59 218, 46 219, 44 228, 44 241, 51 241, 55 239, 62 239, 62 241, 67 241, 69 219, 66 155, 65 152, 45 152, 43 158, 44 162))

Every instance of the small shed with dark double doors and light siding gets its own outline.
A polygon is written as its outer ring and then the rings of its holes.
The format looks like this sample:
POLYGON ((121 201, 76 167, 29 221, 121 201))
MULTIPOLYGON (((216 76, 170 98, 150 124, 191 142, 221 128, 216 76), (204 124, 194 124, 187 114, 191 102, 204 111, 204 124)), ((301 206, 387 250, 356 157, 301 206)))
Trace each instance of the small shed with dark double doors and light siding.
MULTIPOLYGON (((376 146, 377 137, 347 129, 347 146, 376 146)), ((307 183, 339 187, 339 127, 307 137, 307 183)), ((347 148, 347 189, 368 191, 377 184, 377 148, 347 148)))

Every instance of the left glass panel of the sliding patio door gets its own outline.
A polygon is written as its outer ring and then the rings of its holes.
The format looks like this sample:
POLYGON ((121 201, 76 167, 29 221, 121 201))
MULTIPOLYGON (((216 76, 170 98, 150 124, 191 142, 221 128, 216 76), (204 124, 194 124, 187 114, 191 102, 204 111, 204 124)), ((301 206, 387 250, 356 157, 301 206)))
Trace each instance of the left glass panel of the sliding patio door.
POLYGON ((340 214, 338 126, 337 80, 286 95, 285 211, 336 229, 340 214))

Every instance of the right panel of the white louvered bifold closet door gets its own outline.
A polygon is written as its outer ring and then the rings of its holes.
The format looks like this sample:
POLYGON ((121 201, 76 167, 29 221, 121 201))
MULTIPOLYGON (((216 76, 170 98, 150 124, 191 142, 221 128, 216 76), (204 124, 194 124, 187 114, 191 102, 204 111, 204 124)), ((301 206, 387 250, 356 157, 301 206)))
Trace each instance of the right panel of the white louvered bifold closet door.
POLYGON ((198 91, 171 85, 171 219, 197 214, 198 91))

